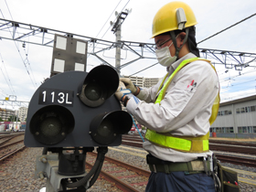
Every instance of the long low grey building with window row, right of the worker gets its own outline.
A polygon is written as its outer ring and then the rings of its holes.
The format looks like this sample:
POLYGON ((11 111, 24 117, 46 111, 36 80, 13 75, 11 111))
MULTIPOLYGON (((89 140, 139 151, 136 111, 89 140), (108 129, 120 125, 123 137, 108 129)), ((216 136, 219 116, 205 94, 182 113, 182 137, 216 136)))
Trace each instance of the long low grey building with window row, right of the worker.
POLYGON ((220 103, 210 133, 218 137, 256 138, 256 95, 220 103))

